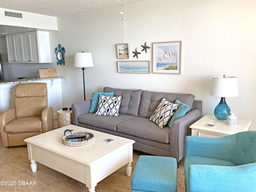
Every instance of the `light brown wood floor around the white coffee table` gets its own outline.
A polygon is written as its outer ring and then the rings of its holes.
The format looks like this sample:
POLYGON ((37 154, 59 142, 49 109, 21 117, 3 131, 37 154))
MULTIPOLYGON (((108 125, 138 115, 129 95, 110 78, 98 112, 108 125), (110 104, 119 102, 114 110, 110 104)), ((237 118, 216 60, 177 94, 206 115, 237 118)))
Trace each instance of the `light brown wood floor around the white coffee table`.
MULTIPOLYGON (((56 120, 54 121, 54 127, 56 120)), ((138 160, 143 155, 142 152, 134 150, 132 170, 138 160)), ((88 192, 85 184, 74 180, 62 173, 59 173, 47 166, 37 163, 37 172, 33 173, 30 169, 28 160, 28 150, 26 146, 6 148, 0 138, 0 182, 16 182, 16 185, 0 186, 1 192, 88 192), (23 183, 22 183, 23 182, 23 183), (27 182, 27 183, 26 183, 27 182), (36 183, 36 185, 23 184, 36 183)), ((131 176, 126 176, 125 166, 100 181, 96 186, 96 192, 130 192, 131 176)), ((184 184, 184 159, 178 168, 178 192, 185 192, 184 184)))

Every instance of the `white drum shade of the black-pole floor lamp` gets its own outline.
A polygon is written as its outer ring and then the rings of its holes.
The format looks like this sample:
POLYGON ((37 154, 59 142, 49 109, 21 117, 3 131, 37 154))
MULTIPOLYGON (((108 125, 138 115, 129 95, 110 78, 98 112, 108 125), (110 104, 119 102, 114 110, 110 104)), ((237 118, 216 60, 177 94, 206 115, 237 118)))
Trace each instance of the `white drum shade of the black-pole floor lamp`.
POLYGON ((74 53, 74 67, 93 67, 92 53, 74 53))

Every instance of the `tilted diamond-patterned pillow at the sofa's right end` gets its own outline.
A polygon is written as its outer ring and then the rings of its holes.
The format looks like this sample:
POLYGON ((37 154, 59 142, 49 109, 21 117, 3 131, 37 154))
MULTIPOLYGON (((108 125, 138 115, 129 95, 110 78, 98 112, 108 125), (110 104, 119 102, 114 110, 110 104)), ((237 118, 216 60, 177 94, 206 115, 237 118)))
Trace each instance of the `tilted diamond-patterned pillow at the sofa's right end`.
POLYGON ((168 102, 165 98, 162 98, 162 101, 150 117, 150 121, 155 122, 160 128, 163 128, 170 121, 178 107, 178 104, 168 102))

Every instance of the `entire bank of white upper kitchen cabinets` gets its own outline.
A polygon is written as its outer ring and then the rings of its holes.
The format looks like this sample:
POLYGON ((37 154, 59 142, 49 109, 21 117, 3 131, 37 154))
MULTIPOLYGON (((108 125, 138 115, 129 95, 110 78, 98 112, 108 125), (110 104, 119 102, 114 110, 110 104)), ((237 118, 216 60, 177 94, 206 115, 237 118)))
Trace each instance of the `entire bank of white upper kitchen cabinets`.
MULTIPOLYGON (((8 48, 8 58, 9 62, 21 62, 21 63, 50 63, 50 40, 49 40, 49 32, 45 31, 33 31, 27 33, 13 34, 6 36, 7 47, 10 44, 10 40, 14 39, 14 43, 19 42, 19 50, 15 50, 16 52, 20 51, 20 60, 12 58, 11 50, 12 48, 8 48), (10 54, 9 54, 10 52, 10 54), (9 56, 10 55, 10 56, 9 56), (14 61, 15 60, 15 61, 14 61)), ((12 44, 14 44, 12 43, 12 44)), ((18 47, 15 46, 15 47, 18 47)), ((14 51, 12 51, 14 52, 14 51)), ((14 56, 13 56, 14 57, 14 56)))

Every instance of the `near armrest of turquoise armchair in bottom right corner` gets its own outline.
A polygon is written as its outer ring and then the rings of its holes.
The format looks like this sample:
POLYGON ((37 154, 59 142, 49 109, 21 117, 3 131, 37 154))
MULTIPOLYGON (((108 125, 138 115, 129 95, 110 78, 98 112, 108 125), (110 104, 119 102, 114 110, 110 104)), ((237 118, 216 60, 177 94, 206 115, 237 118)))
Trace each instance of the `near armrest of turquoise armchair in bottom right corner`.
POLYGON ((256 191, 256 163, 240 166, 190 165, 189 192, 256 191))

